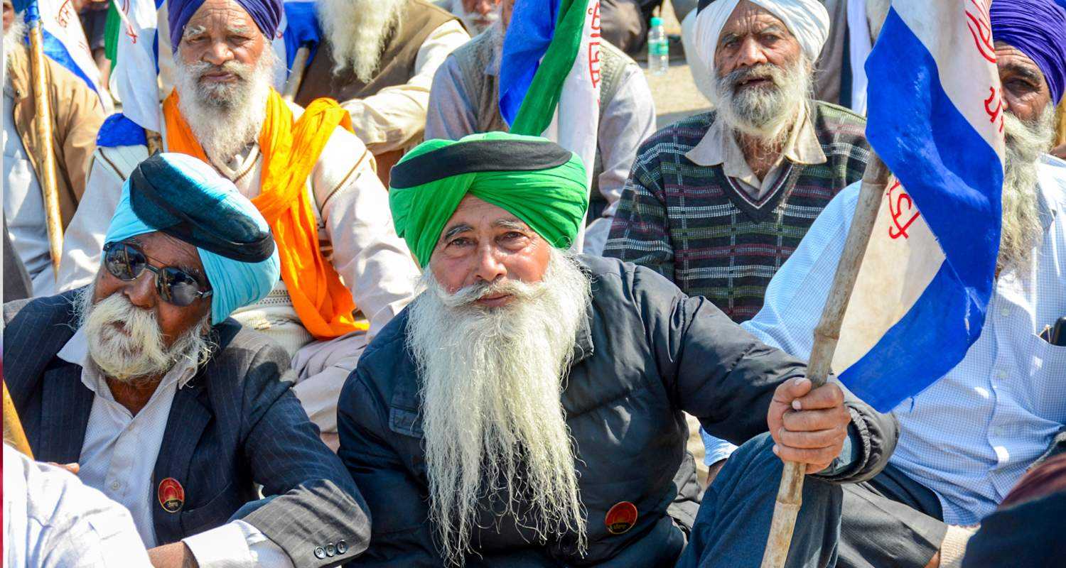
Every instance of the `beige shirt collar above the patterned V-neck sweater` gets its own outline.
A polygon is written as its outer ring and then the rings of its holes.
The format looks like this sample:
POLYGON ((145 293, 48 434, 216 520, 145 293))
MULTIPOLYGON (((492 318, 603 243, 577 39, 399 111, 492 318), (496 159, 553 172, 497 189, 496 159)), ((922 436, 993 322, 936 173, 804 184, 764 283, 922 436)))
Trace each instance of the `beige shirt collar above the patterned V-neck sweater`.
MULTIPOLYGON (((701 166, 722 165, 725 174, 731 178, 747 178, 754 176, 743 150, 737 144, 737 139, 725 123, 715 116, 707 133, 685 158, 701 166)), ((789 139, 781 150, 781 159, 788 159, 794 164, 823 164, 827 161, 822 144, 818 141, 814 125, 810 120, 807 104, 800 107, 800 114, 789 132, 789 139)), ((776 166, 776 164, 775 164, 776 166)))

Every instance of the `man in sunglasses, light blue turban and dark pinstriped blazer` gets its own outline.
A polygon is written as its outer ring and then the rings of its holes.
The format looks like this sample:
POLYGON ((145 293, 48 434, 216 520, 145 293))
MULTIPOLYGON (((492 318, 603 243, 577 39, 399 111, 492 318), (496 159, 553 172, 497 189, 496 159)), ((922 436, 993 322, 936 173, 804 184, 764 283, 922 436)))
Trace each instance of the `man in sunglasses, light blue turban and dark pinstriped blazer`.
POLYGON ((4 306, 4 379, 34 457, 128 508, 156 566, 318 568, 367 546, 362 498, 287 354, 229 318, 278 273, 229 180, 157 153, 123 185, 93 282, 4 306))

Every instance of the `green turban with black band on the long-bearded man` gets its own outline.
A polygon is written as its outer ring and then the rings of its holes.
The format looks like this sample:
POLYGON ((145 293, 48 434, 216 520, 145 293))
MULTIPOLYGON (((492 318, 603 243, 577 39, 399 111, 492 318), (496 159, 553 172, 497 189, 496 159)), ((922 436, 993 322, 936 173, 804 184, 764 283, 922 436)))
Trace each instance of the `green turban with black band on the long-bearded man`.
POLYGON ((392 168, 389 208, 397 233, 425 267, 467 194, 506 209, 552 246, 567 248, 588 208, 581 159, 554 142, 486 132, 430 140, 392 168))

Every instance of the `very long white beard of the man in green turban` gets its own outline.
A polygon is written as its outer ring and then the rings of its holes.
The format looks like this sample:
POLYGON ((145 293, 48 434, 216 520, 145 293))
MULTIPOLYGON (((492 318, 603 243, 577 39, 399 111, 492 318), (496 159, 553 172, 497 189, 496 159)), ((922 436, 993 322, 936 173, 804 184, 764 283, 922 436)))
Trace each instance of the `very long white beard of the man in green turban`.
POLYGON ((591 302, 589 277, 569 254, 553 249, 537 283, 468 287, 450 295, 429 271, 423 282, 407 343, 423 380, 431 520, 446 562, 463 565, 479 500, 489 494, 540 539, 577 534, 584 550, 584 508, 561 393, 591 302), (500 292, 514 295, 510 305, 473 304, 500 292))

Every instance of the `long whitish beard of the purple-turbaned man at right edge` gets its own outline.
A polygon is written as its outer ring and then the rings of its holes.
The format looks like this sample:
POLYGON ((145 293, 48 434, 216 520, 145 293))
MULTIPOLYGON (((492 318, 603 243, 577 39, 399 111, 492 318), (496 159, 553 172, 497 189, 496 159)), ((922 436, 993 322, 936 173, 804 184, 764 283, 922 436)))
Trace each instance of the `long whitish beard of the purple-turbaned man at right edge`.
POLYGON ((1051 147, 1054 111, 1051 106, 1033 123, 1004 114, 1006 159, 1003 168, 1003 217, 997 272, 1028 270, 1033 247, 1044 234, 1036 194, 1037 164, 1051 147))

